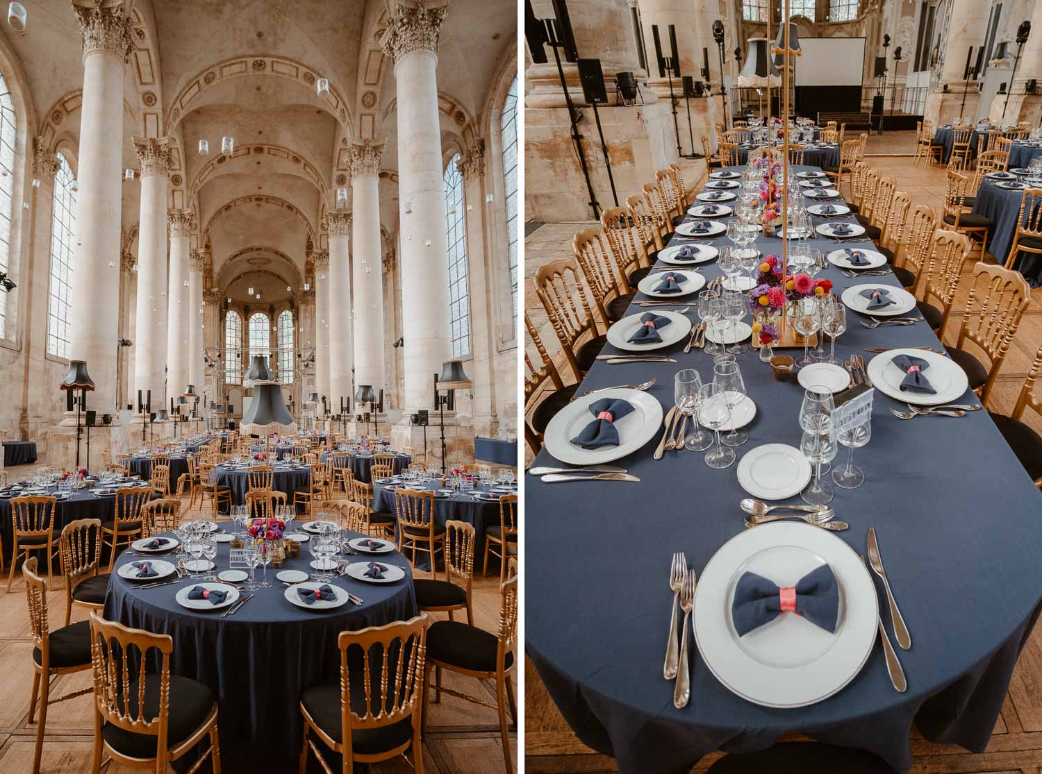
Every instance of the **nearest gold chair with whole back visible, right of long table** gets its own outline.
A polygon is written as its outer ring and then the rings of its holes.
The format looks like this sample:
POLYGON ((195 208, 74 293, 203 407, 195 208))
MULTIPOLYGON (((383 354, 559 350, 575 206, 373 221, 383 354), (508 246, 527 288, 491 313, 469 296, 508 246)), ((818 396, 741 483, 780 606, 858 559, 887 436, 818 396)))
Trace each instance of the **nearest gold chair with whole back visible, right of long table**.
POLYGON ((970 389, 981 396, 985 406, 1031 300, 1032 289, 1019 272, 985 263, 973 267, 973 282, 966 299, 959 340, 954 347, 946 349, 951 359, 966 372, 970 389), (991 361, 990 368, 985 368, 966 349, 968 343, 984 353, 991 361))

